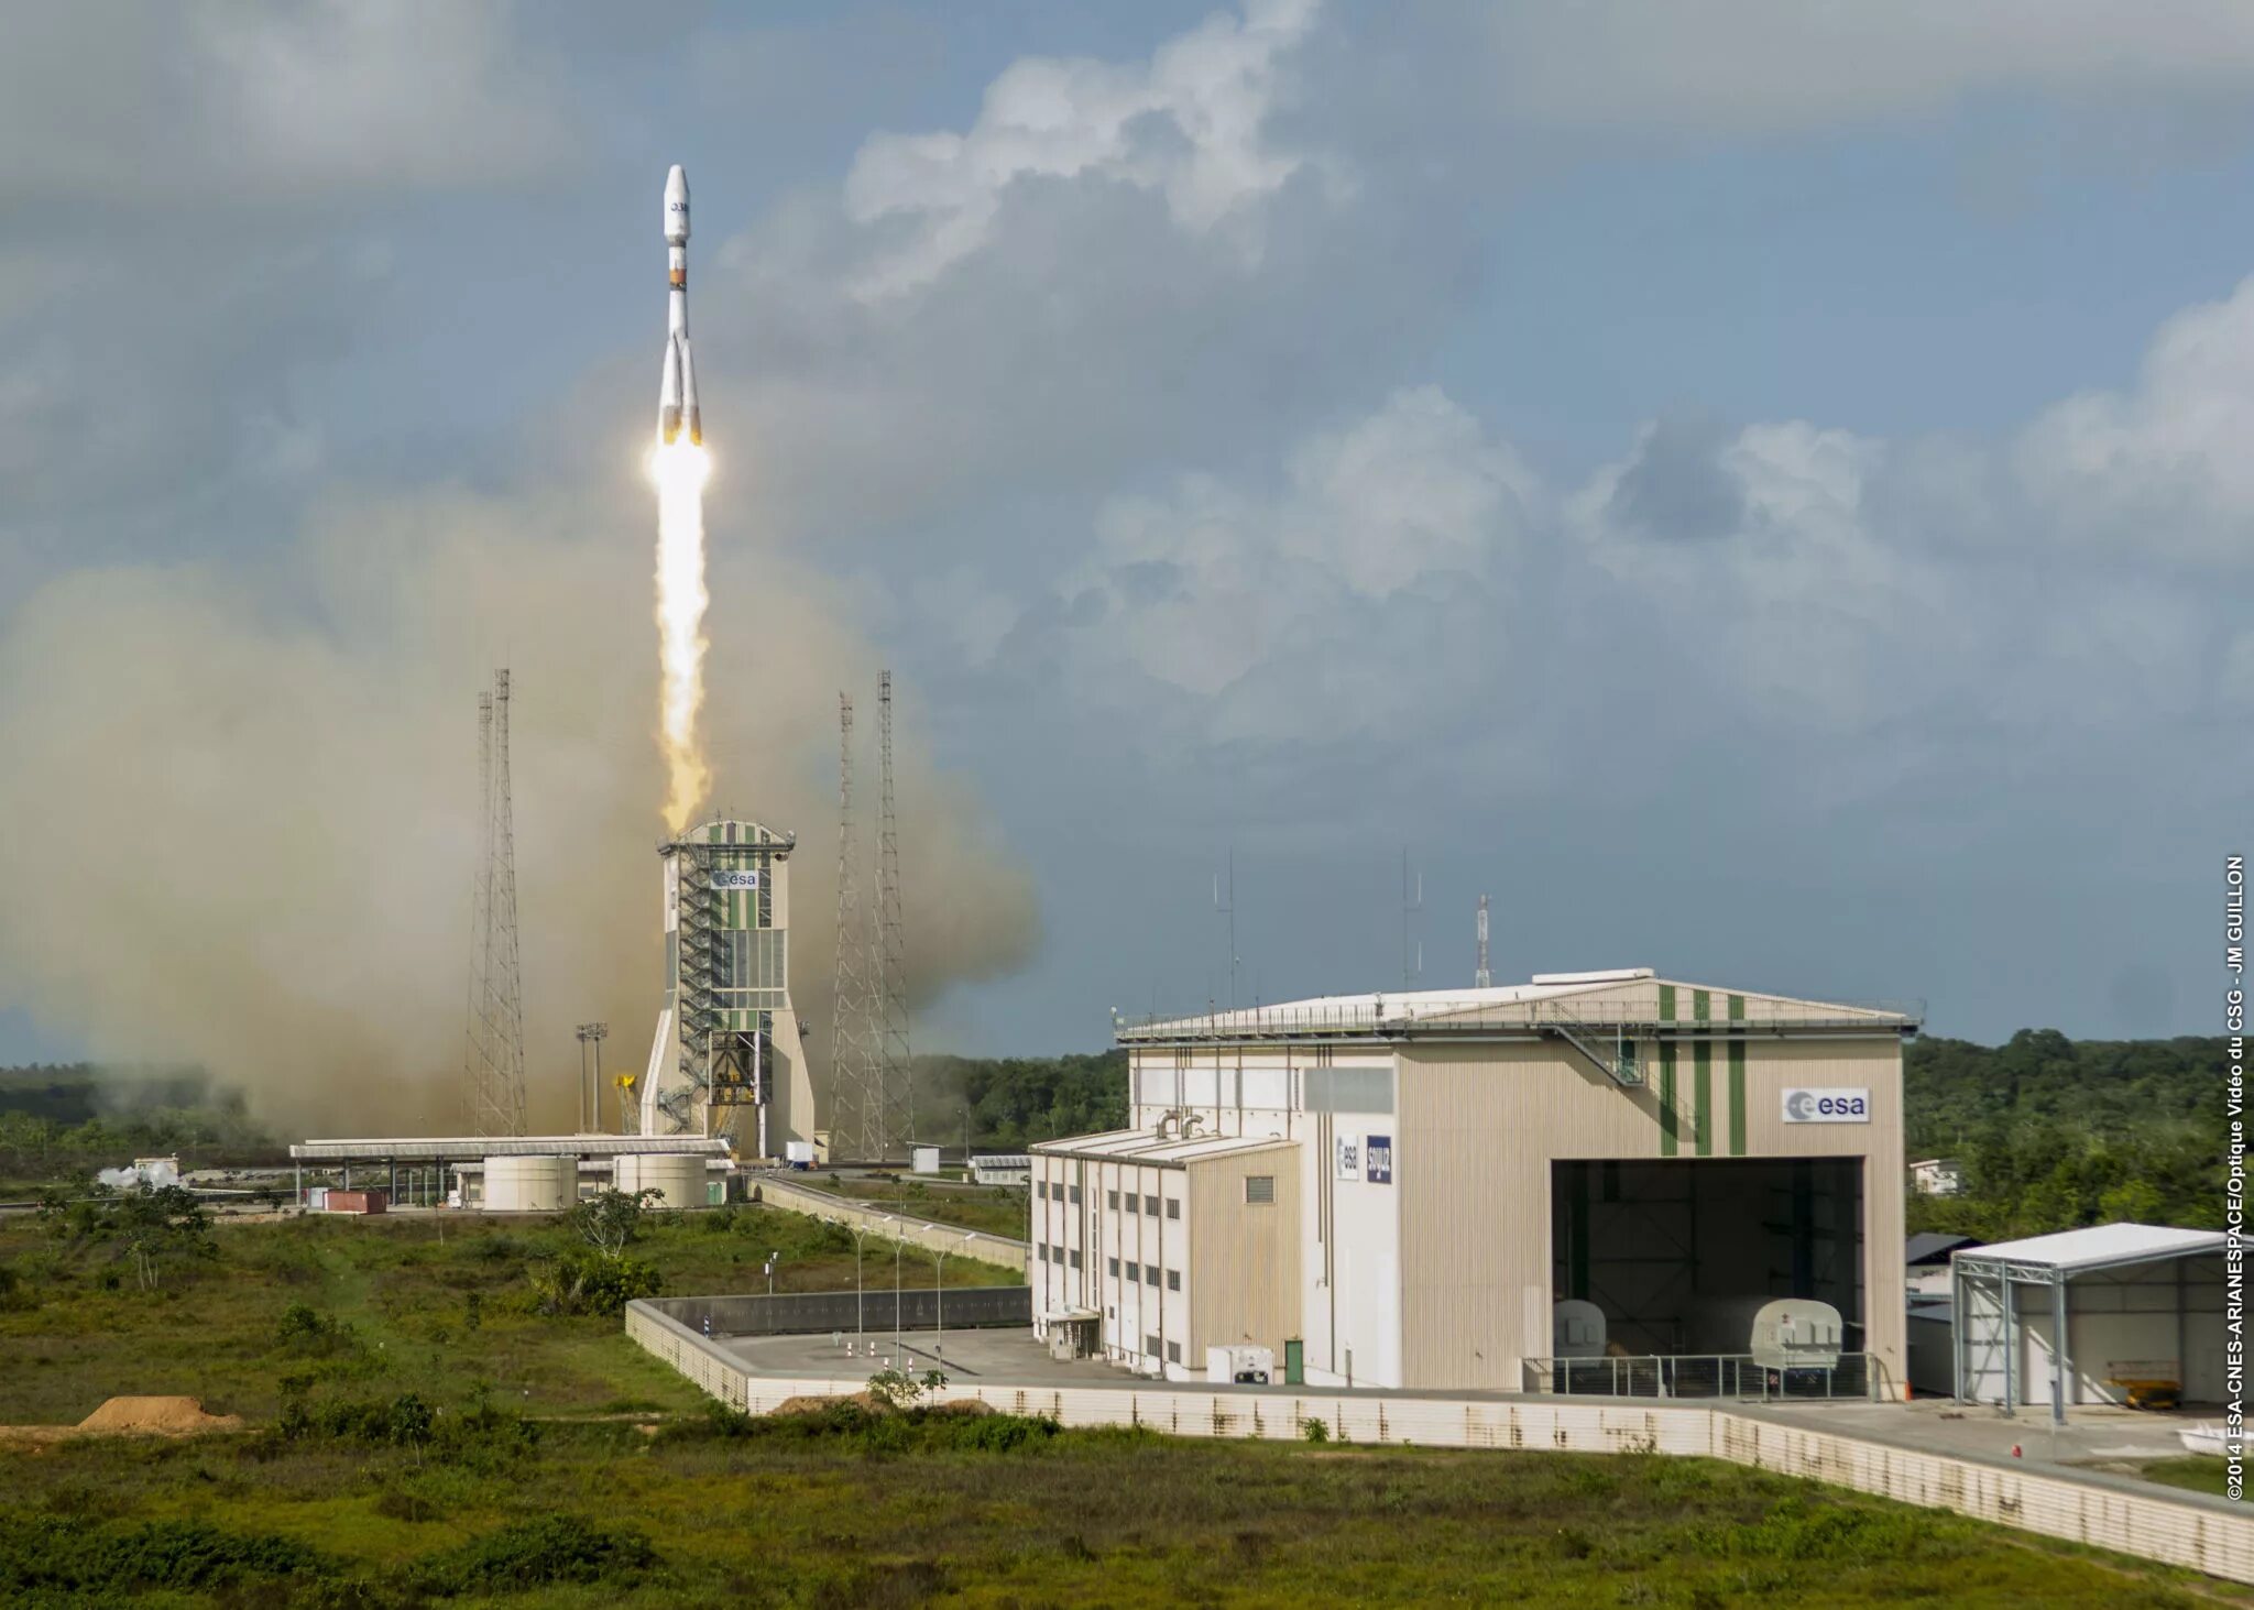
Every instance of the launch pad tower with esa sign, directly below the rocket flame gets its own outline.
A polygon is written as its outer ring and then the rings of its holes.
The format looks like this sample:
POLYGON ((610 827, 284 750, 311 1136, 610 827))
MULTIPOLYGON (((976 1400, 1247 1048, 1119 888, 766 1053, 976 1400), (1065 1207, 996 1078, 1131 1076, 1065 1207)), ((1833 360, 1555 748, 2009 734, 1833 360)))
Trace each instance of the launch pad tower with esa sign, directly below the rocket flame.
POLYGON ((665 1010, 642 1078, 642 1134, 730 1134, 782 1157, 814 1132, 789 983, 796 834, 708 821, 658 846, 665 864, 665 1010))

